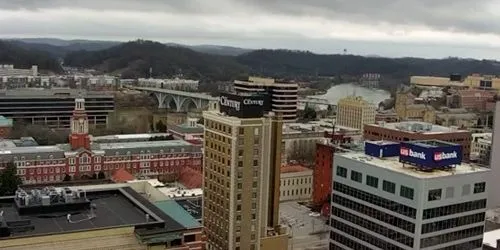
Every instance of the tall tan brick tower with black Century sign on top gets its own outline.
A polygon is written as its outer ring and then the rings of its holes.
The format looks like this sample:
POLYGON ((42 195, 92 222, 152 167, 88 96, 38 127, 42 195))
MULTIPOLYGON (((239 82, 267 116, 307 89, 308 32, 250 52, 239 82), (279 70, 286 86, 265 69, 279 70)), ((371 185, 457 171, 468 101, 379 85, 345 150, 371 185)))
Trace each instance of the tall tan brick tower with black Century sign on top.
POLYGON ((261 95, 223 94, 205 123, 203 226, 208 249, 286 249, 279 225, 282 121, 261 95))

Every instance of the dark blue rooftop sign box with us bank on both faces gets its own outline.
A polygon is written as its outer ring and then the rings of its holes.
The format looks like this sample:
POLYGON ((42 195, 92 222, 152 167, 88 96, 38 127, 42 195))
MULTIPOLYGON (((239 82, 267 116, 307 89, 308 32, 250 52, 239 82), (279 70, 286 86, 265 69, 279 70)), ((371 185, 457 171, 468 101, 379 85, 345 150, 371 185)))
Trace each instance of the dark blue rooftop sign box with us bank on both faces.
POLYGON ((399 161, 424 169, 462 163, 462 146, 443 141, 401 142, 399 161))

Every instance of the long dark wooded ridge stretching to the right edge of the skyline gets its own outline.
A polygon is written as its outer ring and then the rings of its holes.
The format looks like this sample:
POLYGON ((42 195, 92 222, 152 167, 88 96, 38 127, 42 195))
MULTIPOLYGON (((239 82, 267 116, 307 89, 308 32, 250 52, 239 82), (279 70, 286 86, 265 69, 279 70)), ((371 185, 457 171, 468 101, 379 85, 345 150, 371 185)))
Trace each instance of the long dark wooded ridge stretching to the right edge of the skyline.
POLYGON ((380 73, 395 78, 411 75, 449 76, 450 73, 497 74, 500 64, 490 60, 460 58, 383 58, 356 55, 320 55, 308 51, 256 50, 236 57, 251 73, 290 77, 304 75, 350 75, 380 73))

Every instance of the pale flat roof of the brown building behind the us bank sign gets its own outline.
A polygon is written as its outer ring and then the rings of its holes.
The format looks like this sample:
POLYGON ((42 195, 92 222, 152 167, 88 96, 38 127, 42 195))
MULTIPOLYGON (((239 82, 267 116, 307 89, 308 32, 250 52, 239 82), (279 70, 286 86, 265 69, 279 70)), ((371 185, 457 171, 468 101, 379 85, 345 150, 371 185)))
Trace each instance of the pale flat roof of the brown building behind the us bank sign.
POLYGON ((421 134, 468 132, 467 130, 445 127, 428 122, 419 122, 419 121, 391 122, 391 123, 380 123, 380 124, 369 124, 369 125, 381 128, 405 131, 409 133, 421 133, 421 134))

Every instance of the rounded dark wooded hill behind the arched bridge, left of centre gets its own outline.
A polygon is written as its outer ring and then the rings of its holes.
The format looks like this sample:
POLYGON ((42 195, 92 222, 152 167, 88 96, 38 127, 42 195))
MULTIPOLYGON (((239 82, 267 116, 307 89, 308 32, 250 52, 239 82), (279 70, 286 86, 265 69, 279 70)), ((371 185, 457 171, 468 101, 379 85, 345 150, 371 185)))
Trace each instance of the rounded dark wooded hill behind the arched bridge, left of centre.
POLYGON ((203 54, 180 46, 138 40, 100 51, 70 52, 68 66, 94 68, 124 78, 183 74, 197 79, 231 79, 248 71, 232 57, 203 54))

